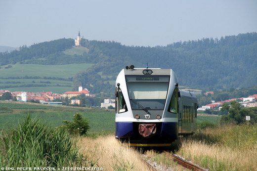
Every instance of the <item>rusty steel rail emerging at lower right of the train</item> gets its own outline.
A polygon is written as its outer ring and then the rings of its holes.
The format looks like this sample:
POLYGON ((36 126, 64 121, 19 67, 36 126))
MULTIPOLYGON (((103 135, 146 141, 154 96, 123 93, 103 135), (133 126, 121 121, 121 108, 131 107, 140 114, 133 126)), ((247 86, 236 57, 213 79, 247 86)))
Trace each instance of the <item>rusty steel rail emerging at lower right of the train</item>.
POLYGON ((179 165, 183 166, 184 168, 187 168, 187 169, 190 169, 190 170, 193 170, 193 171, 208 171, 207 169, 205 168, 202 168, 198 165, 195 165, 191 162, 188 162, 174 154, 171 154, 167 151, 164 151, 166 153, 167 156, 171 156, 171 158, 173 158, 173 161, 177 162, 179 165))

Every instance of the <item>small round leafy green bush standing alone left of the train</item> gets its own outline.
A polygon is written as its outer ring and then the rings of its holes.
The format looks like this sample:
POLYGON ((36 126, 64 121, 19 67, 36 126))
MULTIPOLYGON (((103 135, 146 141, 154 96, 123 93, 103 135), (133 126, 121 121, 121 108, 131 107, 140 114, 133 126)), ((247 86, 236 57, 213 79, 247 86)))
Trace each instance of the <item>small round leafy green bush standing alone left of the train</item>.
POLYGON ((89 130, 89 124, 86 119, 82 118, 82 115, 76 113, 73 115, 73 122, 70 121, 63 121, 65 124, 62 128, 65 128, 69 131, 70 134, 79 134, 79 135, 86 135, 87 131, 89 130))

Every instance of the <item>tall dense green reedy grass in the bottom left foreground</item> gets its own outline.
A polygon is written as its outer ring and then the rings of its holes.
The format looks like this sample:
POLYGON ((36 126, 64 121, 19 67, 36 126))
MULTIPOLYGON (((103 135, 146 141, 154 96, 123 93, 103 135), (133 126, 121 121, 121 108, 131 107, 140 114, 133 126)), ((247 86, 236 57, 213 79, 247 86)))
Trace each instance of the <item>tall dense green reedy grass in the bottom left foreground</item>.
POLYGON ((47 127, 29 115, 0 136, 0 167, 57 167, 86 164, 68 133, 47 127))

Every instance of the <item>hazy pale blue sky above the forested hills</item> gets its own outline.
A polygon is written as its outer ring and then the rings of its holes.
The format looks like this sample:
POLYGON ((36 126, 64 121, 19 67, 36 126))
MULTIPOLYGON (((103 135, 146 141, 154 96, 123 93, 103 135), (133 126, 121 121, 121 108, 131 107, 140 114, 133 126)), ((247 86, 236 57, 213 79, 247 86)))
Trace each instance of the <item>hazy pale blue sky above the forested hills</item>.
POLYGON ((61 38, 155 46, 257 32, 257 0, 0 0, 0 45, 61 38))

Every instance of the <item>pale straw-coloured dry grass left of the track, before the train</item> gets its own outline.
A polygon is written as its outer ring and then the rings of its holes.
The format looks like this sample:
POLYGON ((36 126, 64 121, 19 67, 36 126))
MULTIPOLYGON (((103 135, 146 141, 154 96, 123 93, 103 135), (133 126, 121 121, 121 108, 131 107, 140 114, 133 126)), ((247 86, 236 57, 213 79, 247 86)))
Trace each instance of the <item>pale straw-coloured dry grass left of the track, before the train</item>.
POLYGON ((117 141, 113 135, 96 139, 82 137, 77 146, 81 154, 104 171, 149 171, 139 152, 117 141))

